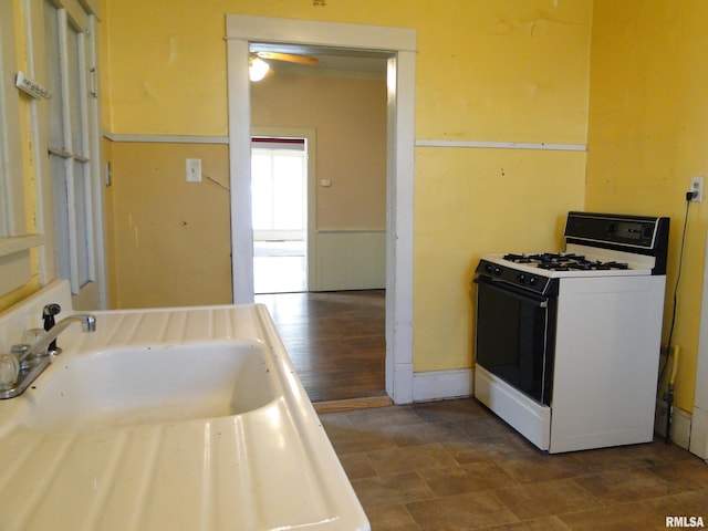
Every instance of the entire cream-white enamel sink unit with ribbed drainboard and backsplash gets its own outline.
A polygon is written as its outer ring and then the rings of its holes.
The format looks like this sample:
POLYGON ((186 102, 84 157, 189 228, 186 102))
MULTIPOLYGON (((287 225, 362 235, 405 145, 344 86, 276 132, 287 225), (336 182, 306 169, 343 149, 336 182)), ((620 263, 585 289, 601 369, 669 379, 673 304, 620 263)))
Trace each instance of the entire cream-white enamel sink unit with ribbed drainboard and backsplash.
MULTIPOLYGON (((53 302, 0 313, 0 352, 53 302)), ((96 312, 0 400, 0 530, 371 530, 264 306, 96 312)))

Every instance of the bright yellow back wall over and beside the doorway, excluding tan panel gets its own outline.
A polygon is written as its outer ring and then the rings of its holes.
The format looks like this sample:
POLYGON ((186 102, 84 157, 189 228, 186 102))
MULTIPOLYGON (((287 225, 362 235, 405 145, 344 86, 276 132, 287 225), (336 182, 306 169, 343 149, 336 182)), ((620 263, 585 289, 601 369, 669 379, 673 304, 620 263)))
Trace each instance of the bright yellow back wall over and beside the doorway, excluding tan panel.
MULTIPOLYGON (((591 0, 105 0, 104 13, 112 133, 226 135, 238 13, 417 30, 416 138, 586 140, 591 0)), ((420 147, 415 178, 414 368, 467 367, 471 264, 558 248, 584 204, 585 153, 420 147)))

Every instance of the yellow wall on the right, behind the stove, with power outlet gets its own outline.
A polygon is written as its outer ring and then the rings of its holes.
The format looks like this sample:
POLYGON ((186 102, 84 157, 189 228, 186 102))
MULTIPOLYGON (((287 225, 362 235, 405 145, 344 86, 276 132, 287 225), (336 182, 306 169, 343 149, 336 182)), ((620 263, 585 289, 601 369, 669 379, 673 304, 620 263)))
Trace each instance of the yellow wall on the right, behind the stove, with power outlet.
MULTIPOLYGON (((595 0, 586 208, 670 216, 668 339, 685 192, 708 167, 708 2, 595 0)), ((708 205, 688 214, 676 327, 676 405, 694 405, 708 205)))

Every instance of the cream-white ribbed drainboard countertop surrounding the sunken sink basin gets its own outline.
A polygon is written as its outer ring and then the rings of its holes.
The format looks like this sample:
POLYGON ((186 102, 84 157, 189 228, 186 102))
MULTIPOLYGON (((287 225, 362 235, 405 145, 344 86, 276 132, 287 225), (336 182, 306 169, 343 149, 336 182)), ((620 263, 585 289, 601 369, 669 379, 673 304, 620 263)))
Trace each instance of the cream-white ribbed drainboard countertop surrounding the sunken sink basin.
POLYGON ((23 395, 0 402, 0 529, 355 530, 366 517, 264 306, 98 312, 97 331, 23 395), (277 391, 239 415, 97 429, 37 430, 33 397, 72 356, 121 345, 254 339, 277 391))

